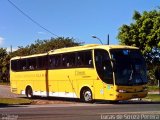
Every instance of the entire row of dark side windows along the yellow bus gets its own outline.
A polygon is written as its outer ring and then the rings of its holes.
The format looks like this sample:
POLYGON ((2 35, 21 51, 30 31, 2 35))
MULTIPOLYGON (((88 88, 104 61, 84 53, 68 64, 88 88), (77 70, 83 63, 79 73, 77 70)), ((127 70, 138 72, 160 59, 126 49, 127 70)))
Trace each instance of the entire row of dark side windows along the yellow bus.
POLYGON ((15 71, 93 67, 92 51, 80 51, 11 61, 15 71))

